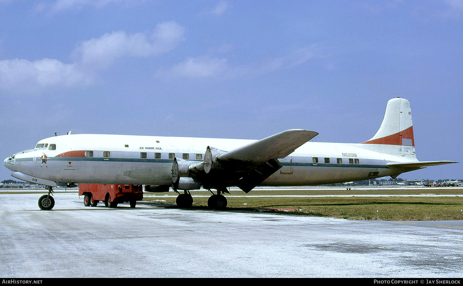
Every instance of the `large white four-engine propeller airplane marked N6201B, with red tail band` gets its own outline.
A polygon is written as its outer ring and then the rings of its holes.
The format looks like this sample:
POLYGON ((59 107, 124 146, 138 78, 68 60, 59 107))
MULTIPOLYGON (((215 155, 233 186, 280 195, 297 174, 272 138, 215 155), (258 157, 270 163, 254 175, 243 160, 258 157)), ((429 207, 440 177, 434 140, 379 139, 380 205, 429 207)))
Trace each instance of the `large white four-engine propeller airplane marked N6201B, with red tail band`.
POLYGON ((310 141, 319 133, 286 130, 261 140, 70 134, 38 141, 35 148, 4 160, 12 176, 47 186, 39 207, 51 210, 56 183, 143 184, 177 194, 180 208, 193 204, 191 190, 210 191, 208 207, 224 210, 228 187, 248 193, 256 186, 335 184, 390 176, 426 166, 458 163, 419 161, 410 102, 388 101, 375 135, 363 143, 310 141), (212 190, 216 190, 214 194, 212 190), (183 191, 183 193, 180 193, 183 191))

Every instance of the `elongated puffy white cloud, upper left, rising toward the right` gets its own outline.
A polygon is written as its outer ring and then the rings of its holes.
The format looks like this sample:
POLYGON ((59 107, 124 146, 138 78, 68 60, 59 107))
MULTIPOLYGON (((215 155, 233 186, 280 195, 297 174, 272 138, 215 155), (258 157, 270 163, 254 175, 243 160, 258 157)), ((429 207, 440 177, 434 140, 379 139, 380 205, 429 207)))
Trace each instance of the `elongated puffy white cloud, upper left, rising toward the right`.
POLYGON ((85 66, 106 68, 119 57, 148 57, 174 49, 184 40, 185 29, 171 21, 156 25, 154 32, 127 34, 106 33, 84 41, 74 51, 85 66))

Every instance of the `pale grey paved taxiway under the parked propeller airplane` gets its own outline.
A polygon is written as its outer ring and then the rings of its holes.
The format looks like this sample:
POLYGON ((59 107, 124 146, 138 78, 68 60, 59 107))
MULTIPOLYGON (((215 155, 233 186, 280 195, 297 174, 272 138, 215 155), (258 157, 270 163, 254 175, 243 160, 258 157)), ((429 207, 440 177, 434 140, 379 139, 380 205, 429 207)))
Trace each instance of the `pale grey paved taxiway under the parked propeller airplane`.
POLYGON ((463 221, 85 207, 76 193, 0 195, 0 271, 44 277, 463 276, 463 221))

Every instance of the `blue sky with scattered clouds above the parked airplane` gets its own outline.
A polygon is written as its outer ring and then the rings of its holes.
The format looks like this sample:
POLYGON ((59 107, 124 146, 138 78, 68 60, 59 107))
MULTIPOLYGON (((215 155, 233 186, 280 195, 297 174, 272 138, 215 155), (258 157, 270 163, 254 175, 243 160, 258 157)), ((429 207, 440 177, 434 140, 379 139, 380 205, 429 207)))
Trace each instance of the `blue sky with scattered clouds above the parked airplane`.
POLYGON ((463 162, 462 24, 462 0, 0 0, 0 155, 69 130, 364 142, 399 96, 418 159, 463 162))

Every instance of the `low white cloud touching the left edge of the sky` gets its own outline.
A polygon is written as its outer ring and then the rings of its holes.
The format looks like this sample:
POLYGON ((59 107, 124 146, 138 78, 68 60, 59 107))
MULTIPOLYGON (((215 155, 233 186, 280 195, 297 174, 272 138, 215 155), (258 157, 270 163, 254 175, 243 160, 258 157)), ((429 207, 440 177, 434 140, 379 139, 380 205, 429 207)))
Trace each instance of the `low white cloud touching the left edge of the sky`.
POLYGON ((63 64, 56 59, 36 61, 25 59, 0 60, 0 88, 33 91, 37 88, 86 86, 93 77, 75 64, 63 64))

